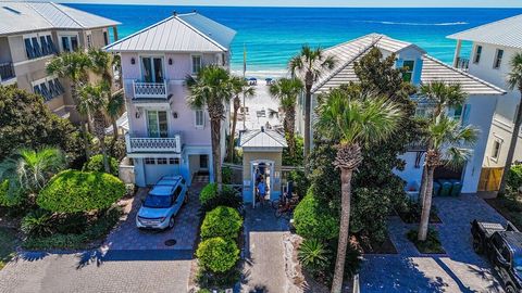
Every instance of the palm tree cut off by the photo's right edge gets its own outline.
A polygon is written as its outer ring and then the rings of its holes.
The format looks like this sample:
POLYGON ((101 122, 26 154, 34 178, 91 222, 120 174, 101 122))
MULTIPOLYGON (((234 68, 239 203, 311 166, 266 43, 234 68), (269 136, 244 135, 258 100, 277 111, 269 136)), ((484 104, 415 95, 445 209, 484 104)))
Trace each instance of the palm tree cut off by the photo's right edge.
MULTIPOLYGON (((508 86, 510 90, 518 89, 522 94, 522 53, 517 53, 510 61, 511 73, 508 74, 508 86)), ((513 132, 511 132, 511 142, 509 144, 508 156, 506 157, 506 164, 504 166, 502 179, 500 181, 499 194, 506 192, 506 179, 511 169, 513 163, 514 149, 517 148, 517 140, 520 133, 520 125, 522 124, 522 97, 519 107, 515 113, 515 119, 513 125, 513 132)))

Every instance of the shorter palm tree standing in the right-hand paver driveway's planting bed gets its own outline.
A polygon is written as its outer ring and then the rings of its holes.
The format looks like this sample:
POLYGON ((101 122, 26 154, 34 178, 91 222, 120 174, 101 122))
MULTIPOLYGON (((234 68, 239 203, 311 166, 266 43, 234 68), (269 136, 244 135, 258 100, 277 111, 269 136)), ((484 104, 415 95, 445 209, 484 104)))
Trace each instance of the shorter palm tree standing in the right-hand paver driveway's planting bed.
POLYGON ((469 148, 477 137, 476 128, 471 125, 462 127, 459 120, 446 116, 444 112, 428 124, 424 137, 430 145, 425 158, 426 187, 422 202, 419 241, 425 241, 427 235, 435 169, 443 165, 457 167, 464 164, 472 154, 469 148))

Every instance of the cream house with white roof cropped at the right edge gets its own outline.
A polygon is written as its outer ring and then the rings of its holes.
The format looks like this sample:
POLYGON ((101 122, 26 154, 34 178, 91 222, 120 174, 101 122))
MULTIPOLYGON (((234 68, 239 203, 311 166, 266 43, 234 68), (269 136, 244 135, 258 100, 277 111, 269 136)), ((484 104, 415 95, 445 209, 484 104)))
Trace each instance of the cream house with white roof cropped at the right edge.
MULTIPOLYGON (((511 72, 509 63, 517 52, 522 52, 522 15, 474 27, 448 38, 457 40, 453 66, 509 89, 506 82, 511 72), (461 56, 462 41, 472 42, 472 51, 467 52, 470 59, 461 56)), ((507 95, 498 100, 484 156, 481 190, 498 190, 519 106, 520 91, 517 89, 508 90, 507 95)), ((522 133, 519 133, 513 160, 522 161, 522 133)))

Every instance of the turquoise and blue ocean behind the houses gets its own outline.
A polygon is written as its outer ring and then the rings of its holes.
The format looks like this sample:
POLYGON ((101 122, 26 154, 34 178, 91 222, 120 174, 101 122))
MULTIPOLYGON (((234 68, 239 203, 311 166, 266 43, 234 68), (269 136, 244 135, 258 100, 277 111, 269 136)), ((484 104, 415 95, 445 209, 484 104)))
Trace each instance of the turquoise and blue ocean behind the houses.
MULTIPOLYGON (((243 71, 246 48, 247 73, 252 76, 286 73, 288 60, 303 43, 327 48, 370 33, 414 42, 433 56, 450 63, 456 41, 446 36, 522 13, 522 9, 66 5, 121 22, 120 38, 170 16, 174 11, 197 10, 237 31, 232 44, 232 69, 243 71)), ((469 54, 470 50, 471 43, 464 42, 462 54, 469 54)))

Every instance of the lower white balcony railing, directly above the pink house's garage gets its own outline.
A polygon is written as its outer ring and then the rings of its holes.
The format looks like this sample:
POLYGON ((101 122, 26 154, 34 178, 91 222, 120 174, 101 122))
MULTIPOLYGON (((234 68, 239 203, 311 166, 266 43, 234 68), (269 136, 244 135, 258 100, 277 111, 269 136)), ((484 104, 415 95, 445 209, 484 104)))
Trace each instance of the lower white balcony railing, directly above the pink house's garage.
POLYGON ((182 138, 179 135, 175 135, 172 138, 135 138, 127 133, 125 143, 127 144, 127 153, 182 152, 182 138))

